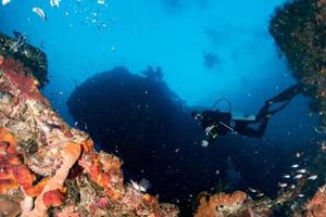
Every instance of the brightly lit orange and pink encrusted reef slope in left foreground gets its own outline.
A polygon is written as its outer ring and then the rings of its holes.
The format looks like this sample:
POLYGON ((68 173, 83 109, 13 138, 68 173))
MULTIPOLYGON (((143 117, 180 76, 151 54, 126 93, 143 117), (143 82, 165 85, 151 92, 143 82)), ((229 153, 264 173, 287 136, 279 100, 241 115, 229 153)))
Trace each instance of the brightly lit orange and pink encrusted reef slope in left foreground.
POLYGON ((124 184, 121 161, 96 152, 52 111, 26 66, 0 56, 1 216, 177 216, 176 206, 124 184))

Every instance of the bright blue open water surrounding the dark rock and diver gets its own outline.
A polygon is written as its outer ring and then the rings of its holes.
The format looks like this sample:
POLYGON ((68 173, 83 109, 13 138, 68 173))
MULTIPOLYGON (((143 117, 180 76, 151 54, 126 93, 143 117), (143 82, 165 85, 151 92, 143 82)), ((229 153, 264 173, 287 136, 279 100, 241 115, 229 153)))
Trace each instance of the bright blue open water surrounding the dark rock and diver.
MULTIPOLYGON (((211 106, 227 98, 234 111, 254 114, 296 82, 268 34, 273 11, 284 2, 111 0, 101 5, 62 0, 54 9, 48 1, 12 0, 0 5, 0 29, 18 30, 33 44, 43 44, 50 82, 42 91, 70 124, 66 100, 74 88, 120 65, 133 73, 161 66, 168 87, 188 105, 211 106), (46 22, 32 12, 34 7, 45 10, 46 22), (206 53, 217 60, 213 67, 204 64, 206 53)), ((306 145, 316 136, 309 102, 297 97, 271 119, 264 140, 252 144, 306 145)))

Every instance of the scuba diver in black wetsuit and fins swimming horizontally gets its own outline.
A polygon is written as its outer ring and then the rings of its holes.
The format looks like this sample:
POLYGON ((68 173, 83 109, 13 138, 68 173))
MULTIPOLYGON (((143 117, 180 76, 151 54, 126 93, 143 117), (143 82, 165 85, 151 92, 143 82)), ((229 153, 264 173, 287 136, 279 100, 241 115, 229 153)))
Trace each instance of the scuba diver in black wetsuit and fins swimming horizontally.
POLYGON ((297 85, 286 89, 278 95, 265 101, 260 112, 256 115, 243 115, 230 112, 230 103, 226 99, 220 99, 212 107, 204 112, 192 112, 191 116, 205 130, 208 139, 202 140, 202 145, 206 146, 214 141, 217 135, 242 135, 252 138, 262 138, 265 133, 268 119, 272 115, 281 111, 289 102, 302 90, 303 85, 297 85), (229 112, 221 112, 215 110, 215 106, 222 100, 229 103, 229 112), (272 105, 280 103, 277 108, 269 110, 272 105), (259 125, 253 128, 251 125, 259 125))

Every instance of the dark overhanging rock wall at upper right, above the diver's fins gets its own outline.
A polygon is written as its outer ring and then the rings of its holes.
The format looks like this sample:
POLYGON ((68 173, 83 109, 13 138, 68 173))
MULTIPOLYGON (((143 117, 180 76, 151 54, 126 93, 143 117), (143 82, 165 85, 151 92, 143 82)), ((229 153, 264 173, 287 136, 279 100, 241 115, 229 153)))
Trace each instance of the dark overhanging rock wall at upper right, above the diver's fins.
POLYGON ((306 86, 312 110, 326 131, 326 1, 289 1, 275 11, 269 33, 285 54, 293 76, 306 86))

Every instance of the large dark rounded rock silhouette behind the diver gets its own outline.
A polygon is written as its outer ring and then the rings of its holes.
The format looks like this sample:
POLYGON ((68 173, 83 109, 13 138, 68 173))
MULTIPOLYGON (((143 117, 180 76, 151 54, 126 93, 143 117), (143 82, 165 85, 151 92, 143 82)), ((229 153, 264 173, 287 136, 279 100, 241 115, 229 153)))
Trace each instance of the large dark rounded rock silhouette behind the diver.
POLYGON ((125 178, 148 179, 149 191, 162 200, 177 199, 191 210, 189 195, 215 184, 215 174, 206 178, 205 150, 196 143, 203 132, 160 67, 139 75, 125 67, 99 73, 76 87, 67 104, 99 149, 123 158, 125 178))

